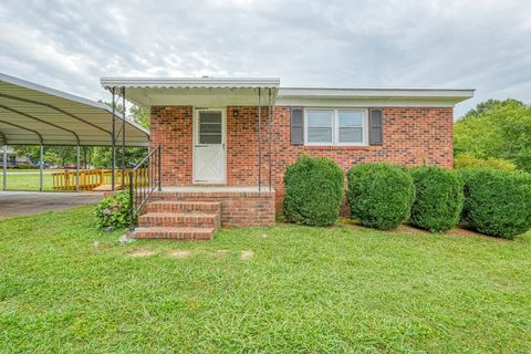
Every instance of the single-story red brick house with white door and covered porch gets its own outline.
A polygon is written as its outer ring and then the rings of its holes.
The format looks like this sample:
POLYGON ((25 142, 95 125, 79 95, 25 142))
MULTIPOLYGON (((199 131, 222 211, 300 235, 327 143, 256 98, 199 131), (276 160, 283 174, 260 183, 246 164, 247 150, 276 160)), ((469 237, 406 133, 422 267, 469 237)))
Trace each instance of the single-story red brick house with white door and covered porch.
POLYGON ((102 85, 122 87, 128 101, 150 110, 150 147, 160 146, 164 188, 140 227, 159 227, 159 237, 179 237, 170 227, 205 225, 170 214, 183 208, 218 210, 216 226, 273 223, 283 174, 301 154, 330 157, 345 170, 364 162, 451 168, 454 105, 473 95, 293 88, 278 79, 104 77, 102 85), (198 202, 205 206, 191 206, 198 202))

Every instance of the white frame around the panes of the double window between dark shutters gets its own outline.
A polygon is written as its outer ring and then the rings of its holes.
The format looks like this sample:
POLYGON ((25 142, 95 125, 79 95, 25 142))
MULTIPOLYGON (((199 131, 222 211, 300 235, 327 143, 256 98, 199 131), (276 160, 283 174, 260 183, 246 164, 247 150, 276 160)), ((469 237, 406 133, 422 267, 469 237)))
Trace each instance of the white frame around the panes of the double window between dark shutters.
POLYGON ((368 145, 368 110, 357 107, 305 107, 304 108, 304 145, 308 146, 367 146, 368 145), (311 143, 308 142, 308 112, 309 111, 332 111, 332 142, 331 143, 311 143), (340 143, 340 111, 362 112, 363 113, 363 140, 361 143, 340 143))

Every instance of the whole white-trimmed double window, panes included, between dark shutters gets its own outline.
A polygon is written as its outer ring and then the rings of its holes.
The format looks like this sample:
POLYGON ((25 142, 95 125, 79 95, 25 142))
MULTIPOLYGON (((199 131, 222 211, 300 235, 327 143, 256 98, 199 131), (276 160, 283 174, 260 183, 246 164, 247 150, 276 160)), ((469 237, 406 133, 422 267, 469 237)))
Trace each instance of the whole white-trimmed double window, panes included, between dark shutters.
POLYGON ((304 144, 367 145, 367 110, 304 110, 304 144))

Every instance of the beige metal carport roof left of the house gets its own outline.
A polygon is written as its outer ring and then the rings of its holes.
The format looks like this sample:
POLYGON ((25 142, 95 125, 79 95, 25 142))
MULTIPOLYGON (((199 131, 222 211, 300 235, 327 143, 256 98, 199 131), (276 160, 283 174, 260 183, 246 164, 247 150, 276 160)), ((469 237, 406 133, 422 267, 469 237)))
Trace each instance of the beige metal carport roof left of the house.
MULTIPOLYGON (((116 112, 118 129, 122 119, 116 112)), ((125 145, 147 146, 149 132, 125 122, 125 145)), ((0 73, 2 145, 112 146, 112 126, 113 111, 104 103, 0 73)), ((122 137, 116 134, 116 139, 122 137)))

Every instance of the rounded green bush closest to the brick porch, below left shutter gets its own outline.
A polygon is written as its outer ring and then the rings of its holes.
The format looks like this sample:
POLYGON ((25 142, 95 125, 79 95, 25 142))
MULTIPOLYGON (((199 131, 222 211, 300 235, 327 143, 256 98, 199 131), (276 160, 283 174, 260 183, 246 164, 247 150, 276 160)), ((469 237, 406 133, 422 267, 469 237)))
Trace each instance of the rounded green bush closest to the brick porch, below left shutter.
POLYGON ((333 225, 345 195, 343 170, 327 158, 301 156, 284 175, 284 216, 310 226, 333 225))

